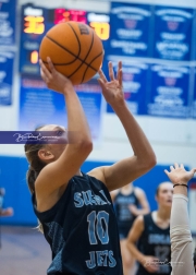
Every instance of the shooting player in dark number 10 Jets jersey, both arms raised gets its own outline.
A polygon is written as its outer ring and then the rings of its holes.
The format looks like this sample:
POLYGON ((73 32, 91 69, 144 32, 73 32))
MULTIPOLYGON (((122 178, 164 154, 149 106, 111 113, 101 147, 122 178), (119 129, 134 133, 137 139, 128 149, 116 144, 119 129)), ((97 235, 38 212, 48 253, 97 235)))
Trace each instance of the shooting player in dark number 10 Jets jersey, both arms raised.
POLYGON ((100 70, 99 84, 126 131, 134 155, 83 174, 81 166, 93 150, 88 123, 71 81, 56 71, 49 58, 48 64, 50 71, 40 61, 41 77, 49 88, 64 95, 68 129, 49 124, 39 131, 66 132, 69 142, 25 145, 34 211, 52 251, 48 275, 122 275, 118 224, 109 192, 150 170, 156 165, 155 153, 126 107, 122 63, 115 79, 110 62, 110 82, 100 70))

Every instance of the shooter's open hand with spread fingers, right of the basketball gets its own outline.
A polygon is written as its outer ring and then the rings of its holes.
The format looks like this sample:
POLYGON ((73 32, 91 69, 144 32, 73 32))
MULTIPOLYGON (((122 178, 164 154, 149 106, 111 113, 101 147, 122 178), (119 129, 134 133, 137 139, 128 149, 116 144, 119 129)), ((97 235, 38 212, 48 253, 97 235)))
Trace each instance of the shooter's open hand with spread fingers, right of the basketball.
POLYGON ((105 73, 100 69, 98 71, 100 79, 98 80, 102 94, 111 106, 124 103, 124 93, 122 85, 122 62, 119 62, 117 77, 114 76, 112 62, 109 62, 110 82, 106 79, 105 73))

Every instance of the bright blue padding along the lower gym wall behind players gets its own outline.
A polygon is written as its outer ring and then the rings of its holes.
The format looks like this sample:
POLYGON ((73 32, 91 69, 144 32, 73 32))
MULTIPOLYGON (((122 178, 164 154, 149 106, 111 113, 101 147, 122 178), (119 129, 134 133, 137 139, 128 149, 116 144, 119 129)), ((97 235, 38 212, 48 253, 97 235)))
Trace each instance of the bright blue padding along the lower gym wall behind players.
MULTIPOLYGON (((112 163, 85 162, 82 170, 87 172, 95 167, 111 165, 112 163)), ((170 165, 170 164, 169 164, 170 165)), ((155 191, 162 181, 168 181, 163 170, 169 165, 157 165, 148 174, 137 179, 134 184, 145 190, 151 210, 156 210, 155 191)), ((30 193, 26 184, 28 164, 24 157, 0 156, 0 187, 5 189, 3 207, 13 207, 13 217, 1 217, 2 225, 36 226, 37 219, 30 203, 30 193)))

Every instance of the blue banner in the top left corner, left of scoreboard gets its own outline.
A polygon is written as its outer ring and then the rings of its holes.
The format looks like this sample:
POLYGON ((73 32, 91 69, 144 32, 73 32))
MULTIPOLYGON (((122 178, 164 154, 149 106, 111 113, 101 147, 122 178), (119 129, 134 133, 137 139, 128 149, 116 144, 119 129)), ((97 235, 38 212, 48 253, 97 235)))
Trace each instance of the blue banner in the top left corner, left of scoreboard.
POLYGON ((0 0, 0 46, 15 45, 16 0, 0 0))

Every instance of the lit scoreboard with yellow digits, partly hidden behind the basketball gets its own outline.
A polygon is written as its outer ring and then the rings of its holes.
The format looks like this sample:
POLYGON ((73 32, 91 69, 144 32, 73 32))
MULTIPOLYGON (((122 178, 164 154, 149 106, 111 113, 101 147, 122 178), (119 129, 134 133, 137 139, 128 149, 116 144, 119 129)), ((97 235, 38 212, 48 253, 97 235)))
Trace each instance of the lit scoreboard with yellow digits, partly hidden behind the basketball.
POLYGON ((110 37, 109 14, 74 9, 47 9, 33 4, 22 5, 20 72, 39 75, 38 52, 45 34, 56 24, 76 21, 88 24, 100 37, 106 49, 110 37))

